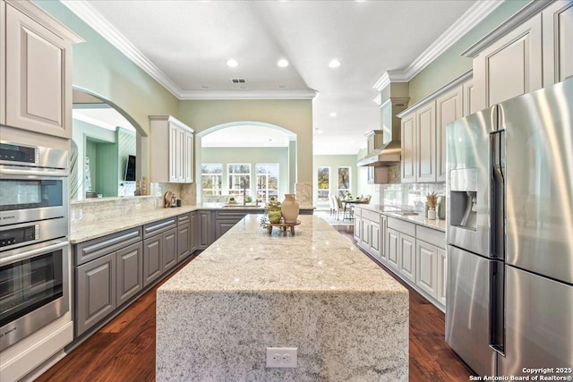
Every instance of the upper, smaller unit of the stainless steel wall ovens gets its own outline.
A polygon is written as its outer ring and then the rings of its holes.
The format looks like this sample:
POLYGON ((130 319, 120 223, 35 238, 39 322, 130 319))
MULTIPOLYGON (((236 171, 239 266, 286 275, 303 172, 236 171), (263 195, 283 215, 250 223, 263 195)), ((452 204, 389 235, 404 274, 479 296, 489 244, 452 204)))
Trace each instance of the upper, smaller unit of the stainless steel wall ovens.
POLYGON ((65 150, 0 140, 0 223, 13 225, 67 216, 65 150))

